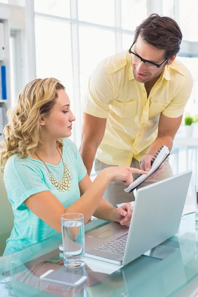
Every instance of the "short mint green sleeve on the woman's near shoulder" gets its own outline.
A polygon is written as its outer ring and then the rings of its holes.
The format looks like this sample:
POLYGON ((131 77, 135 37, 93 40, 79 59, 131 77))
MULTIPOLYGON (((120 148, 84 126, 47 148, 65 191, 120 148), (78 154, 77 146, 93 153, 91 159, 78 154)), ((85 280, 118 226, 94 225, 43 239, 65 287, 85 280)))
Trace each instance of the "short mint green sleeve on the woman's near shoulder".
POLYGON ((49 191, 41 173, 29 167, 25 159, 14 157, 7 162, 3 180, 14 210, 27 208, 23 202, 30 196, 49 191))

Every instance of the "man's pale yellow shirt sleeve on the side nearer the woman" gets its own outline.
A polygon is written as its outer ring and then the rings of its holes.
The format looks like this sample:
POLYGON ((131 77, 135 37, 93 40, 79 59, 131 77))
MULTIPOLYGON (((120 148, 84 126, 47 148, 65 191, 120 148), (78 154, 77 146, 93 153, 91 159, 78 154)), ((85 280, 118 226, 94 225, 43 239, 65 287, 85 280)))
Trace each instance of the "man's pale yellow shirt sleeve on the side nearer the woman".
POLYGON ((113 82, 100 62, 89 79, 89 86, 82 102, 82 109, 88 114, 107 118, 109 104, 114 98, 113 82))

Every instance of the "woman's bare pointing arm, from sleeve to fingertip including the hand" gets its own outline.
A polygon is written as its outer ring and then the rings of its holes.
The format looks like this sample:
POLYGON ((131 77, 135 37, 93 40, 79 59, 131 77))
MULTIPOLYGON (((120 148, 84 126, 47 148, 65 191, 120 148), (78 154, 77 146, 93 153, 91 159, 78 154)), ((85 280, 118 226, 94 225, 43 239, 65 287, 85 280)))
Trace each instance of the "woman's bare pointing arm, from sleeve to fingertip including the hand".
MULTIPOLYGON (((41 192, 27 198, 25 205, 40 219, 46 222, 57 232, 61 233, 60 216, 65 213, 79 212, 84 214, 84 223, 95 213, 99 202, 111 180, 123 181, 128 185, 133 182, 132 173, 146 173, 145 171, 130 167, 108 167, 102 170, 94 182, 90 183, 89 189, 85 190, 83 180, 79 183, 80 191, 86 191, 81 198, 64 208, 62 203, 49 191, 41 192)), ((106 202, 102 202, 106 203, 106 202)), ((103 209, 103 206, 102 206, 103 209)))

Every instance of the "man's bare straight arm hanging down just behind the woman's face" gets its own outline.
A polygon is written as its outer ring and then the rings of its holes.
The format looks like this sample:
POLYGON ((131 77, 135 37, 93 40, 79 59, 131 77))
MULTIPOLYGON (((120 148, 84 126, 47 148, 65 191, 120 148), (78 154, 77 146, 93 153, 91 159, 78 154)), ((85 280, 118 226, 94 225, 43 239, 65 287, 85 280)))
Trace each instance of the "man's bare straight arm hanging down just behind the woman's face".
POLYGON ((97 148, 99 147, 106 127, 106 118, 99 118, 83 113, 82 138, 80 154, 90 175, 97 148))

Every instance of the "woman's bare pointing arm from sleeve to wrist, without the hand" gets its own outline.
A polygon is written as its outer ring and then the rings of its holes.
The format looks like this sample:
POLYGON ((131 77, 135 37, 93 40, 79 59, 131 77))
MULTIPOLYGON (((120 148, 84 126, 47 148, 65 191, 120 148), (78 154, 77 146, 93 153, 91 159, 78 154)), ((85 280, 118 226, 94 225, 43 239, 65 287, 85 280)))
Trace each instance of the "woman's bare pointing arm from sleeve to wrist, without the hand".
POLYGON ((105 171, 101 172, 95 183, 92 184, 92 187, 66 209, 49 191, 32 195, 24 203, 36 216, 61 233, 61 215, 70 212, 79 212, 84 214, 84 222, 87 223, 98 207, 99 201, 109 182, 110 175, 105 171))

